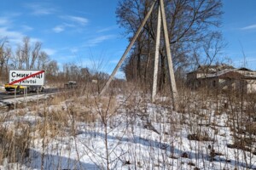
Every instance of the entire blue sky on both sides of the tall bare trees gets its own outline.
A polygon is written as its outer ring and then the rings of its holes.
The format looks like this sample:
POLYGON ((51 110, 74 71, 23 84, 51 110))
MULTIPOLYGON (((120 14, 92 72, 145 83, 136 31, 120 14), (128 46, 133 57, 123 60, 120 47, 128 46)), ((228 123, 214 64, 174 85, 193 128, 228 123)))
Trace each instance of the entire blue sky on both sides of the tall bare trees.
MULTIPOLYGON (((246 66, 256 70, 256 1, 223 2, 221 30, 228 43, 223 54, 237 67, 246 59, 246 66)), ((111 73, 128 45, 116 23, 117 4, 118 0, 3 0, 0 37, 8 37, 11 44, 25 36, 43 42, 43 50, 60 67, 74 63, 111 73)))

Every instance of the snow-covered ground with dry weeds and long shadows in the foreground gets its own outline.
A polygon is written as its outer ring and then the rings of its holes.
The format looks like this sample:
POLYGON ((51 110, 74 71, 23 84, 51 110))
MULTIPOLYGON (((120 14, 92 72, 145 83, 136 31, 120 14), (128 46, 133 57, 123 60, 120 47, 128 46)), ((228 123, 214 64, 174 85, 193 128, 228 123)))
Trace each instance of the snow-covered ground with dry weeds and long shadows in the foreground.
POLYGON ((2 113, 2 127, 28 132, 29 144, 18 163, 3 157, 1 169, 256 169, 255 144, 251 151, 228 147, 230 116, 214 105, 181 113, 166 99, 151 104, 139 96, 56 105, 42 98, 2 113))

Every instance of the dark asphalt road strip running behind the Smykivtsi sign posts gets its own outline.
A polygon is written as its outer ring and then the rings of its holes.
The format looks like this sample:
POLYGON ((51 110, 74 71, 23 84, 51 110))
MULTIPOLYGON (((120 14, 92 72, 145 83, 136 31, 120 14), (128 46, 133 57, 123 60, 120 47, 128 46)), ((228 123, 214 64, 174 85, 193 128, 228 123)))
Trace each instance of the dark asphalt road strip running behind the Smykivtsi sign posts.
MULTIPOLYGON (((51 94, 51 93, 56 93, 59 92, 61 89, 60 88, 44 88, 44 92, 40 92, 39 94, 51 94)), ((27 96, 32 96, 32 95, 38 95, 38 93, 29 93, 27 96)), ((17 94, 16 98, 21 98, 24 97, 24 94, 17 94)), ((3 101, 4 99, 14 99, 15 94, 6 94, 6 92, 0 92, 0 100, 3 101)))

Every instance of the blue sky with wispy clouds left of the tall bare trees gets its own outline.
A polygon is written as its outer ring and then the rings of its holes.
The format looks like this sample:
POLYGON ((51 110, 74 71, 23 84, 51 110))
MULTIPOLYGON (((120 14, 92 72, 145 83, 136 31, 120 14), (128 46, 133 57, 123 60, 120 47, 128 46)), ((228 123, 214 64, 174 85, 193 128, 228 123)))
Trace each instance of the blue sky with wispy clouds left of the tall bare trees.
POLYGON ((15 46, 28 36, 51 59, 110 72, 128 45, 115 18, 118 0, 5 0, 0 37, 15 46), (65 2, 65 3, 64 3, 65 2), (111 2, 111 3, 110 3, 111 2))

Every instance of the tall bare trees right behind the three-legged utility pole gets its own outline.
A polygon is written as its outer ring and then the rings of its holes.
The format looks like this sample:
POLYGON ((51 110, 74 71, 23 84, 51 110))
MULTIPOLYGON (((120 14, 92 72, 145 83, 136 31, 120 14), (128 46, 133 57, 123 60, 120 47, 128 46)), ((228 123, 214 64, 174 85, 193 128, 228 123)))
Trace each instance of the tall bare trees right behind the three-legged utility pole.
MULTIPOLYGON (((127 35, 137 31, 137 26, 147 14, 151 3, 152 0, 119 1, 116 10, 118 23, 119 26, 125 28, 127 35)), ((195 56, 195 53, 198 53, 203 47, 204 38, 216 32, 214 27, 220 26, 222 2, 221 0, 165 0, 165 4, 173 65, 175 70, 179 68, 179 71, 181 71, 181 68, 186 69, 189 66, 191 57, 195 56)), ((153 65, 154 63, 149 58, 149 54, 154 51, 154 48, 149 45, 150 43, 145 43, 145 40, 151 43, 155 41, 156 19, 157 8, 154 8, 154 12, 149 17, 140 36, 143 38, 138 39, 131 52, 131 57, 126 60, 122 67, 124 71, 135 71, 139 74, 142 67, 146 67, 148 71, 145 72, 152 75, 152 69, 150 69, 152 66, 150 67, 148 64, 153 65), (141 56, 147 51, 149 51, 146 54, 146 58, 148 58, 143 60, 141 56), (126 65, 130 69, 125 69, 126 65)), ((160 43, 164 43, 163 39, 160 43)), ((160 48, 160 82, 162 85, 166 83, 166 71, 165 48, 160 48)), ((131 75, 128 72, 125 72, 125 74, 127 76, 128 74, 131 75)))

